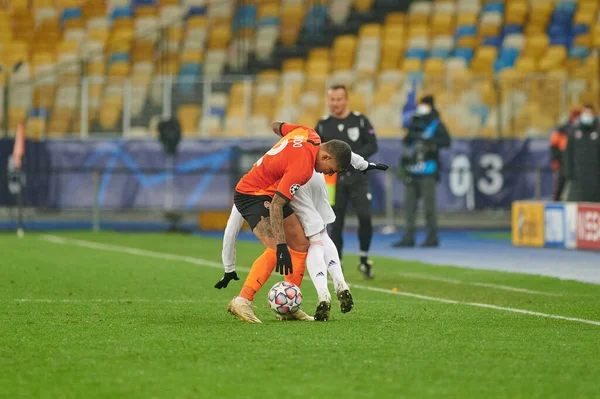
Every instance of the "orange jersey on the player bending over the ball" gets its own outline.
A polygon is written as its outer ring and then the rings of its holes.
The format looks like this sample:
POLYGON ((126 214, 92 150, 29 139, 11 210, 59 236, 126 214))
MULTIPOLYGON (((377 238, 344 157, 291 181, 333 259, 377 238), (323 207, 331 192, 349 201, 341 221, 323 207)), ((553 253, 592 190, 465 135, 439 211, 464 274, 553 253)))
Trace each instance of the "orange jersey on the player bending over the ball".
POLYGON ((321 139, 314 129, 284 123, 283 137, 263 155, 238 182, 241 194, 268 195, 276 192, 291 200, 296 190, 313 175, 321 139))

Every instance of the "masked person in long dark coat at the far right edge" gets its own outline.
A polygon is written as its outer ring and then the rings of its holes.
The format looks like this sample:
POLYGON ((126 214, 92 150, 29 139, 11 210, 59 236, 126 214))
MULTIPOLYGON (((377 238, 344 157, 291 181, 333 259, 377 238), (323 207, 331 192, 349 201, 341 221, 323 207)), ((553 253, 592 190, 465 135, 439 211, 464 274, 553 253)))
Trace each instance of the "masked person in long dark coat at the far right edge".
POLYGON ((568 200, 600 202, 600 126, 593 105, 581 109, 565 150, 568 200))

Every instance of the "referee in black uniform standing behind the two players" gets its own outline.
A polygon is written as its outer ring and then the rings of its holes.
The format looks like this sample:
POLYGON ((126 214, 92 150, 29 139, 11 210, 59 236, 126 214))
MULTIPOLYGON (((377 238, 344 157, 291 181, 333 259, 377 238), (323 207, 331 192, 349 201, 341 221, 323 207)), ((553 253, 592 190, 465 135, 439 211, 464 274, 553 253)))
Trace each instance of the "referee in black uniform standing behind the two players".
MULTIPOLYGON (((338 139, 350 144, 352 151, 367 159, 377 152, 377 139, 371 122, 366 116, 348 109, 348 92, 343 85, 331 86, 327 91, 327 104, 331 114, 321 119, 316 131, 323 142, 338 139)), ((368 259, 369 247, 373 237, 371 221, 371 192, 367 176, 355 169, 342 172, 337 176, 335 203, 335 222, 331 226, 331 239, 337 247, 340 259, 344 245, 343 231, 348 200, 358 216, 358 239, 360 241, 359 270, 367 279, 373 277, 372 262, 368 259)))

